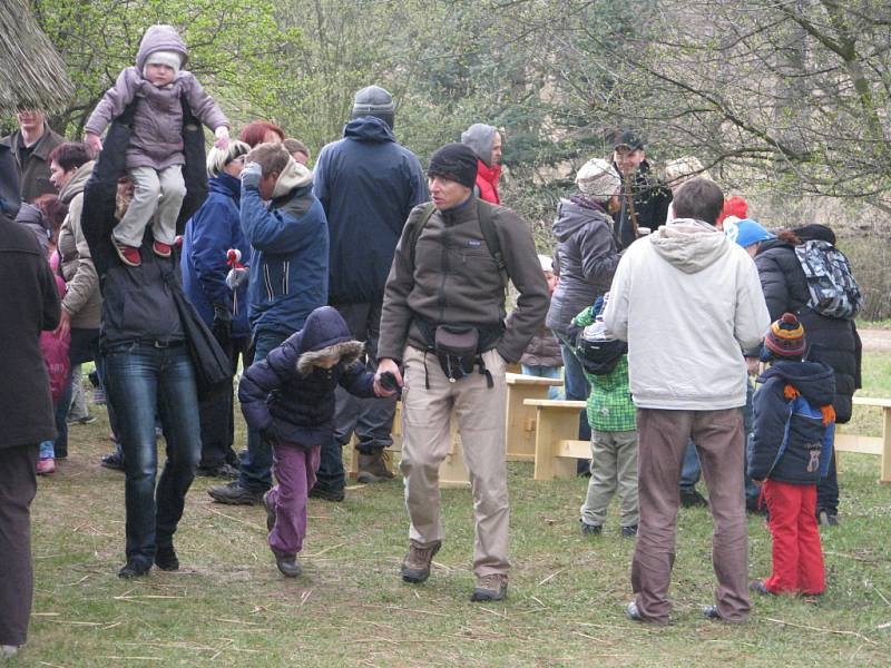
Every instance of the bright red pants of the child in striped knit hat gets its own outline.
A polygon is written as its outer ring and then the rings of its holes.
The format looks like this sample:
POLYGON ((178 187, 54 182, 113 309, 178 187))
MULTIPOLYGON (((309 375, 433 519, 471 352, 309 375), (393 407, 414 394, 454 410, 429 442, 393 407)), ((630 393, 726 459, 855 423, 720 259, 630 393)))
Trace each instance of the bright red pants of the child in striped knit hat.
POLYGON ((764 497, 773 537, 773 573, 764 587, 771 593, 822 593, 826 580, 816 525, 816 485, 766 480, 764 497))

